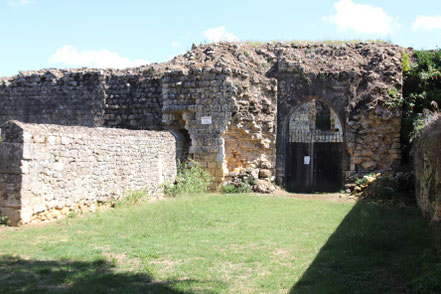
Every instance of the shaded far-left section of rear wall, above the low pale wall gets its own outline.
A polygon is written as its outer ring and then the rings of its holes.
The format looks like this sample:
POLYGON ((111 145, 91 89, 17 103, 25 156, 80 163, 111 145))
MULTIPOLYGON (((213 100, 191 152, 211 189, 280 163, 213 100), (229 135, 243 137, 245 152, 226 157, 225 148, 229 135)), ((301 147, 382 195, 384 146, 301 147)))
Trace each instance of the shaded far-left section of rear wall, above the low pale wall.
POLYGON ((0 79, 0 125, 8 120, 102 126, 103 74, 99 70, 43 70, 0 79))

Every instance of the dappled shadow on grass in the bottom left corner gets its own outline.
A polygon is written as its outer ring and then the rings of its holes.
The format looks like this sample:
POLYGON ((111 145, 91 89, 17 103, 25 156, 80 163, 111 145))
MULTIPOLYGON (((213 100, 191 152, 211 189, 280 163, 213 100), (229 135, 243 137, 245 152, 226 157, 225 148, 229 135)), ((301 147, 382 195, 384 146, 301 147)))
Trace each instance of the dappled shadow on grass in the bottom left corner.
POLYGON ((0 256, 0 293, 186 293, 194 280, 154 282, 149 275, 121 273, 105 260, 37 261, 0 256))

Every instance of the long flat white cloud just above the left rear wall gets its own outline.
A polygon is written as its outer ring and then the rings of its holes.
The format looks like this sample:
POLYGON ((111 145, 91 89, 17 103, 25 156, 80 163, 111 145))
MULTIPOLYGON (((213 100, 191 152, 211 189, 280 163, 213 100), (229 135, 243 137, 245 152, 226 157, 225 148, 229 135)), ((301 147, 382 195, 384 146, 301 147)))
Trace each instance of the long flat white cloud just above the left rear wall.
POLYGON ((116 52, 108 50, 82 50, 78 51, 75 47, 64 45, 58 49, 50 58, 49 62, 64 63, 73 66, 88 66, 102 68, 126 68, 145 65, 150 63, 145 59, 130 60, 121 57, 116 52))

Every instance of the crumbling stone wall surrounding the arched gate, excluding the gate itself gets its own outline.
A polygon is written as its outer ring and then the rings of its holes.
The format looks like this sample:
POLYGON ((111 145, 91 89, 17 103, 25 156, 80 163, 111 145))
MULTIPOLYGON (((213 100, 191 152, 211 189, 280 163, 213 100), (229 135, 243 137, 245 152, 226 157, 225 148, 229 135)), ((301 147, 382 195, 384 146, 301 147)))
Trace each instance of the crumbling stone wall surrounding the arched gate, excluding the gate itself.
POLYGON ((295 107, 320 99, 343 124, 345 177, 401 162, 402 48, 387 44, 294 44, 280 49, 277 177, 283 182, 287 122, 295 107))

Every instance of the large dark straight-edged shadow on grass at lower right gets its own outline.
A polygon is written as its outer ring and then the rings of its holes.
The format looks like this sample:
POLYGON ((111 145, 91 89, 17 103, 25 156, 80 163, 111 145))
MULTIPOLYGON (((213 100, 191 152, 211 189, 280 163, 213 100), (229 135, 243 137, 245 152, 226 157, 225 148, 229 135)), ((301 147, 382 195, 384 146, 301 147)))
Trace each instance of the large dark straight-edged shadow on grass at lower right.
POLYGON ((290 293, 414 293, 422 268, 436 262, 430 229, 416 208, 360 202, 290 293))

